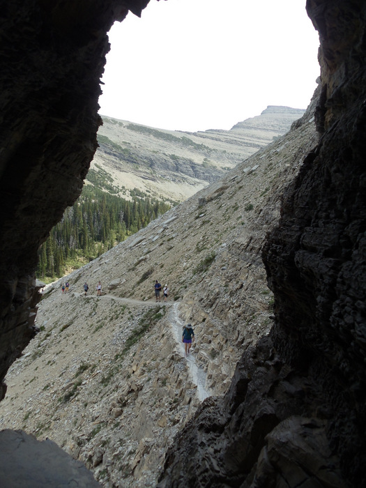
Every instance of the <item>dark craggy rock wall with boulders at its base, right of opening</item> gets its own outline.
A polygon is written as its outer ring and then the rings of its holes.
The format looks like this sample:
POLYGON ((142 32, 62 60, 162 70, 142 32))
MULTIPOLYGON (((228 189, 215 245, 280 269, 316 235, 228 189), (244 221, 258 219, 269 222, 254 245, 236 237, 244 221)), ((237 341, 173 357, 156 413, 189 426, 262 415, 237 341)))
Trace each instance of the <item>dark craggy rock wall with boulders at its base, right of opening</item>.
POLYGON ((176 439, 160 487, 366 485, 366 2, 307 11, 322 137, 264 249, 275 326, 176 439))

